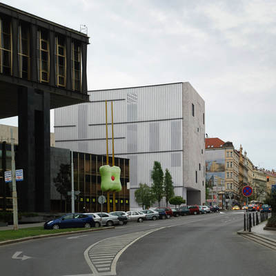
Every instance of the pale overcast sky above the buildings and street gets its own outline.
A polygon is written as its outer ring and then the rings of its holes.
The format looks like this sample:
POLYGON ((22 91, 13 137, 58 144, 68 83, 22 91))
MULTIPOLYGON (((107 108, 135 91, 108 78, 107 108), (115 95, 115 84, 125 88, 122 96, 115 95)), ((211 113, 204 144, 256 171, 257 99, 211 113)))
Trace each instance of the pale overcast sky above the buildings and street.
POLYGON ((2 2, 88 26, 88 90, 189 81, 205 100, 208 137, 242 144, 255 166, 276 168, 275 0, 2 2))

